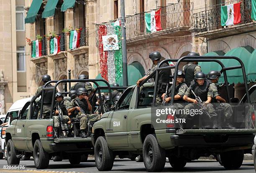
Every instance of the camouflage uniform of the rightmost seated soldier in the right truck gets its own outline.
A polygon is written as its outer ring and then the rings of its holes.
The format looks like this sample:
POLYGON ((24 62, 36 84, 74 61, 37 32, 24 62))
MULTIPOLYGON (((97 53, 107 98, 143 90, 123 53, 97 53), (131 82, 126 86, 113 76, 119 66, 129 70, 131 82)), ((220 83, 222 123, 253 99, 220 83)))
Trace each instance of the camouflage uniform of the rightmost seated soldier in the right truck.
MULTIPOLYGON (((219 92, 218 92, 218 88, 217 88, 216 84, 213 84, 213 83, 210 84, 210 93, 209 93, 209 95, 213 99, 220 95, 219 92)), ((217 105, 216 108, 217 109, 224 109, 224 115, 225 115, 226 119, 229 119, 233 114, 232 107, 228 103, 220 103, 219 105, 217 105)))

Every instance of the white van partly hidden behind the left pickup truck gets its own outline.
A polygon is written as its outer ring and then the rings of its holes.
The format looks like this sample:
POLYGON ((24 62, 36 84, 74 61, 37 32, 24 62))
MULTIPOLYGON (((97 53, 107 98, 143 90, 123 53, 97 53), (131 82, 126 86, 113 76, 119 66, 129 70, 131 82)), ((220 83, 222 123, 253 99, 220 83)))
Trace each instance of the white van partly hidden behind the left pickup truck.
POLYGON ((26 98, 26 99, 20 99, 13 103, 13 105, 10 107, 8 112, 6 113, 6 117, 3 121, 3 130, 1 135, 1 150, 0 150, 0 159, 3 159, 3 156, 5 156, 6 159, 6 153, 5 153, 5 129, 10 126, 11 121, 15 120, 15 118, 18 117, 19 112, 24 107, 24 105, 31 101, 32 97, 26 98))

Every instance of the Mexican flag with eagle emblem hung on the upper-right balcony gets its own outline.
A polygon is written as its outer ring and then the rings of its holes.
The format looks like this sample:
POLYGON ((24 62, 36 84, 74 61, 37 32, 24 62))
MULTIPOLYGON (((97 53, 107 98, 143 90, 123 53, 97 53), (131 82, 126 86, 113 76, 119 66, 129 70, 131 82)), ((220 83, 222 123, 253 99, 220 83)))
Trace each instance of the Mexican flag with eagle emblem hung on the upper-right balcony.
POLYGON ((221 7, 221 25, 236 25, 241 22, 240 3, 221 7))

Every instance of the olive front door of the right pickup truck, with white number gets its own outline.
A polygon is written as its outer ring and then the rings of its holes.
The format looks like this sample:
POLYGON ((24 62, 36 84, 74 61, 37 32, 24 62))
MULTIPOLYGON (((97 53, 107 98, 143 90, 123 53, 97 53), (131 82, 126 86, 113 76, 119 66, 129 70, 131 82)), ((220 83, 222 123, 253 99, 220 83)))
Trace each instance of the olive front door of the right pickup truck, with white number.
POLYGON ((111 147, 128 147, 127 120, 134 89, 125 90, 106 122, 106 139, 111 147))

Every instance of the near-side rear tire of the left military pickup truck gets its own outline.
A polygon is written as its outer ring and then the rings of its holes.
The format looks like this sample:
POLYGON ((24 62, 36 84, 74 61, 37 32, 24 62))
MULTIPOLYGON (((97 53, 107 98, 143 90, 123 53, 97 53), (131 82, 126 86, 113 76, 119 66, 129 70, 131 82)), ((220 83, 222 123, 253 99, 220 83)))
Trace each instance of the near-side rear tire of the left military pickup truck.
POLYGON ((46 169, 49 165, 49 154, 44 150, 41 141, 38 139, 34 145, 33 152, 34 163, 36 169, 46 169))

